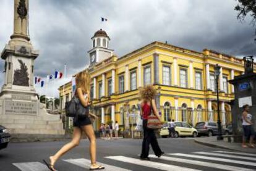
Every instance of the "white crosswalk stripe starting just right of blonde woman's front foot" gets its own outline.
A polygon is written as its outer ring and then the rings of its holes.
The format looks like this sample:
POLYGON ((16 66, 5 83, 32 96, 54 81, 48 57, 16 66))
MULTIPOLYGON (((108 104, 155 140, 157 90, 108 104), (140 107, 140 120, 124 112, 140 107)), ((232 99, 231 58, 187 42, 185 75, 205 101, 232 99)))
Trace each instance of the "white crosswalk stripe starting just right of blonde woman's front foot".
POLYGON ((197 170, 197 169, 190 169, 187 167, 180 167, 176 165, 169 165, 169 164, 163 164, 159 162, 151 162, 151 161, 141 161, 140 159, 134 159, 131 157, 125 157, 125 156, 108 156, 106 157, 107 159, 113 159, 116 161, 121 161, 121 162, 127 162, 130 164, 136 164, 136 165, 142 165, 145 167, 151 167, 154 169, 160 169, 160 170, 179 170, 179 171, 192 171, 192 170, 197 170))

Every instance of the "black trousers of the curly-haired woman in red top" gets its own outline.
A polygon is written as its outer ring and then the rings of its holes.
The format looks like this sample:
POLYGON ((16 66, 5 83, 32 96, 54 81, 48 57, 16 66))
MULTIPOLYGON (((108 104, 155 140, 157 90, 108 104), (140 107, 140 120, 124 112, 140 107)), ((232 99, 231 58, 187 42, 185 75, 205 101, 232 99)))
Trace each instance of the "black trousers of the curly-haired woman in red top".
POLYGON ((143 141, 142 141, 142 154, 140 154, 140 158, 148 157, 150 144, 156 156, 160 156, 160 154, 162 153, 158 145, 155 132, 154 130, 147 128, 147 122, 148 120, 143 119, 143 141))

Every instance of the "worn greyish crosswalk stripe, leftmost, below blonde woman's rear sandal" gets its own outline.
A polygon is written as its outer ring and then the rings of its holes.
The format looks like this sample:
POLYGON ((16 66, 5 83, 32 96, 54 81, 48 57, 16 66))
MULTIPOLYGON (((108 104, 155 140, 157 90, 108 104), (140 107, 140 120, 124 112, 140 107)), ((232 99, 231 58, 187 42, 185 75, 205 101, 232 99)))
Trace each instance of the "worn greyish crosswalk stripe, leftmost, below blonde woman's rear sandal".
POLYGON ((23 163, 13 163, 22 171, 48 171, 48 167, 40 162, 23 162, 23 163))

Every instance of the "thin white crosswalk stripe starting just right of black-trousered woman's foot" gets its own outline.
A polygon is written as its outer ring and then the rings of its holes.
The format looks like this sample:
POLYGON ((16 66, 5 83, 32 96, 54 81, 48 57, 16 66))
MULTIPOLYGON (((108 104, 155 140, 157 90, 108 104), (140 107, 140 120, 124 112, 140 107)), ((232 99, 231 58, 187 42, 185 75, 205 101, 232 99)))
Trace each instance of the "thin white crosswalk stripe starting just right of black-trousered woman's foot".
POLYGON ((223 159, 223 158, 217 158, 217 157, 198 156, 198 155, 194 155, 194 154, 169 153, 169 155, 182 156, 182 157, 192 157, 192 158, 196 158, 196 159, 205 159, 205 160, 211 160, 211 161, 220 161, 220 162, 229 162, 229 163, 234 163, 234 164, 243 164, 243 165, 256 166, 255 162, 236 161, 236 160, 223 159))

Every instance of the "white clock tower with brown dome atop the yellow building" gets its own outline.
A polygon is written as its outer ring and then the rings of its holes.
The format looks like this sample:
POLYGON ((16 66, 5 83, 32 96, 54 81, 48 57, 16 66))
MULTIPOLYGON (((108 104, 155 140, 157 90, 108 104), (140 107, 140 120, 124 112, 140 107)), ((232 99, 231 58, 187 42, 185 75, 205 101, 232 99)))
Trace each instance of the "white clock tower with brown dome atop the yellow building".
POLYGON ((113 49, 109 49, 110 38, 106 31, 100 29, 92 37, 93 48, 88 51, 90 57, 90 66, 113 56, 113 49))

